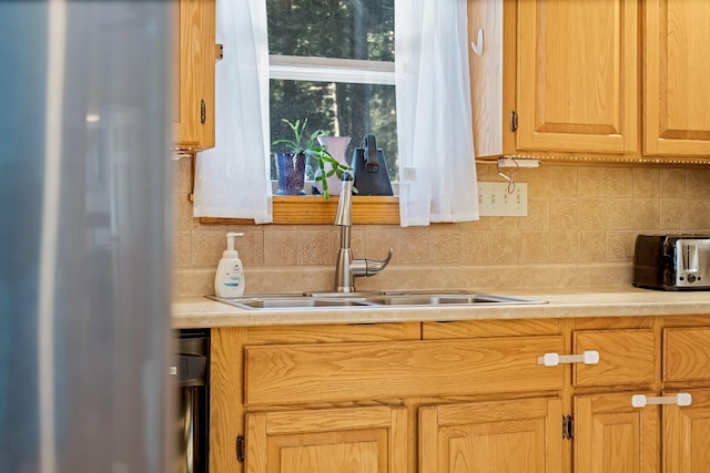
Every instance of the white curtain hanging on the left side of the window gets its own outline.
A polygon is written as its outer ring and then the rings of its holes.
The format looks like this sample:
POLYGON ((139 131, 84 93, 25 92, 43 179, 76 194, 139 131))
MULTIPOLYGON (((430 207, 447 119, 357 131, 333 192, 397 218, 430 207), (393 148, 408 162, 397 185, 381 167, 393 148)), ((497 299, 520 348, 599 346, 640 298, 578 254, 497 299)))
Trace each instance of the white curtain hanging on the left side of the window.
POLYGON ((215 147, 197 156, 195 217, 272 222, 264 0, 217 0, 215 147))

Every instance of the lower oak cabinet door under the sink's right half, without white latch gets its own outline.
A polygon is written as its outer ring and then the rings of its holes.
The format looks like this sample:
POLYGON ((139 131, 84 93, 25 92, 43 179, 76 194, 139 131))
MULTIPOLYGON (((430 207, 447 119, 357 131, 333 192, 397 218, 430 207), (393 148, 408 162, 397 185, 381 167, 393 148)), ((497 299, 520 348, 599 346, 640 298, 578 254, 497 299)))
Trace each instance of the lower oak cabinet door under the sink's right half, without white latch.
POLYGON ((525 399, 419 409, 419 471, 561 472, 559 399, 525 399))

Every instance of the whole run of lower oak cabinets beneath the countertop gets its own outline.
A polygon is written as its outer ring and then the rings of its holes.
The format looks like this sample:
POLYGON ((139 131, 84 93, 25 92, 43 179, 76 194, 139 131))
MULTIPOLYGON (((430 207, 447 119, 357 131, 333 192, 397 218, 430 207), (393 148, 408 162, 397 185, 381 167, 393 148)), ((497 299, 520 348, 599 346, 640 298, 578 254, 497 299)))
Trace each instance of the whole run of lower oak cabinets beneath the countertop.
POLYGON ((709 340, 699 316, 215 328, 210 472, 707 473, 709 340))

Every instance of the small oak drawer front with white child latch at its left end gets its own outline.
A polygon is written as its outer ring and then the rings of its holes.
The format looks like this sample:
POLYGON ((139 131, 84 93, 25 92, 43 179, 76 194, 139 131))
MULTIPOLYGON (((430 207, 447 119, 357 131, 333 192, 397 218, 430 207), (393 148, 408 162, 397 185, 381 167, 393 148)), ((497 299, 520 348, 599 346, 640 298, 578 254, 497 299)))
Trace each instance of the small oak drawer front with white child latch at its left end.
POLYGON ((574 351, 599 352, 597 364, 575 364, 575 385, 653 382, 652 330, 589 330, 574 333, 574 351))

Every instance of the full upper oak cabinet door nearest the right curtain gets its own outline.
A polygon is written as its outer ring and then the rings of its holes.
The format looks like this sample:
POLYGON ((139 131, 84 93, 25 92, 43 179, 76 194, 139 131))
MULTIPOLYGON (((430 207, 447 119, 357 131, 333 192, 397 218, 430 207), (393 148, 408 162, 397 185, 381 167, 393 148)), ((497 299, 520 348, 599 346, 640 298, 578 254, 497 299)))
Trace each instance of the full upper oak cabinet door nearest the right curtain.
POLYGON ((518 0, 518 150, 638 148, 637 10, 623 0, 518 0))

